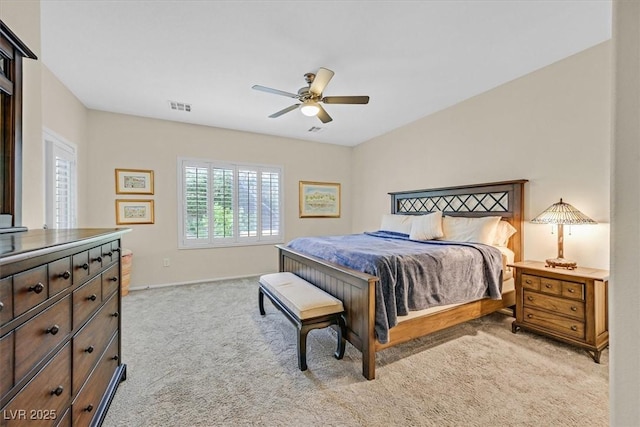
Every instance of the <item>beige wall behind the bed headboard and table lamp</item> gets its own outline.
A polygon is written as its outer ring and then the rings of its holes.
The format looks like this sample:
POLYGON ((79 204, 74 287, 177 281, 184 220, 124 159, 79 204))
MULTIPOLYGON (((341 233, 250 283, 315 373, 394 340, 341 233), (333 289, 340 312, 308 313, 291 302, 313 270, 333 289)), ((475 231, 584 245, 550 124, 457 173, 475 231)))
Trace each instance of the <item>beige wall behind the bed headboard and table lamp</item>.
MULTIPOLYGON (((600 223, 572 227, 565 256, 608 268, 610 51, 605 42, 357 146, 353 230, 378 227, 390 191, 523 178, 525 219, 563 197, 600 223)), ((526 258, 555 257, 550 231, 525 225, 526 258)))

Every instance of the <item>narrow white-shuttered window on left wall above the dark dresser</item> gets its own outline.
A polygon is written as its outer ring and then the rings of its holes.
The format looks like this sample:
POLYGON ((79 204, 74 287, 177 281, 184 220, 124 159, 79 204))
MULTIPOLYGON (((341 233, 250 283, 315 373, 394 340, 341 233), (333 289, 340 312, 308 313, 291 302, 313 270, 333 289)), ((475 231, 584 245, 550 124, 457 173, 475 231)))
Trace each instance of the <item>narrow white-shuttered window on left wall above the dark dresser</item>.
POLYGON ((76 147, 45 132, 46 221, 48 228, 75 228, 76 147))

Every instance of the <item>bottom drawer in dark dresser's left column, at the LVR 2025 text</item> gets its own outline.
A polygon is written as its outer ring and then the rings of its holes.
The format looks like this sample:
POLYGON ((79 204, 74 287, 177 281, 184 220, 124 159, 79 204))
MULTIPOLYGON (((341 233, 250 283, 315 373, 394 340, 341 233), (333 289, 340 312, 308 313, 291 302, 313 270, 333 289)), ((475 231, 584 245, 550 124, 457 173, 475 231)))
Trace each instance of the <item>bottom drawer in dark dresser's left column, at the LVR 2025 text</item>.
POLYGON ((6 408, 5 426, 55 426, 71 401, 71 345, 67 344, 6 408))

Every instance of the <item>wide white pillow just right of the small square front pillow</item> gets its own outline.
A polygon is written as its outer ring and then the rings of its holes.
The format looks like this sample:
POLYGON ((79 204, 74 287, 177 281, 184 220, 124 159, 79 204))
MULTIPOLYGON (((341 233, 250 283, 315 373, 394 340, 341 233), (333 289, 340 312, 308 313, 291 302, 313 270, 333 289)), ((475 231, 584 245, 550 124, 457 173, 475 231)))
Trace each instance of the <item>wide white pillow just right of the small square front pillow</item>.
POLYGON ((443 240, 475 242, 492 245, 495 241, 499 216, 479 218, 445 216, 442 219, 443 240))

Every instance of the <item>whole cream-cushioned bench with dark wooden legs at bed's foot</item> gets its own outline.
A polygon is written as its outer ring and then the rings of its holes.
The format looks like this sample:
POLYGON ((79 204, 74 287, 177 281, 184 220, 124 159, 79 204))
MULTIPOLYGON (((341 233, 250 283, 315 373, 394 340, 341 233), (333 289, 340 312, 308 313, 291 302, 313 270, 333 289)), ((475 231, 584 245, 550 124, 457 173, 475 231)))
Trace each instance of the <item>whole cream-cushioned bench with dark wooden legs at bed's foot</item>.
POLYGON ((345 320, 342 301, 315 287, 293 273, 272 273, 260 276, 258 306, 264 316, 264 295, 298 329, 298 367, 307 369, 307 334, 312 329, 337 326, 336 359, 342 359, 345 349, 345 320))

